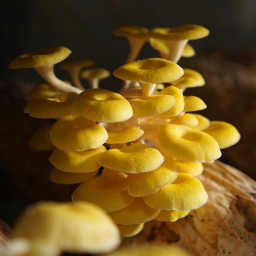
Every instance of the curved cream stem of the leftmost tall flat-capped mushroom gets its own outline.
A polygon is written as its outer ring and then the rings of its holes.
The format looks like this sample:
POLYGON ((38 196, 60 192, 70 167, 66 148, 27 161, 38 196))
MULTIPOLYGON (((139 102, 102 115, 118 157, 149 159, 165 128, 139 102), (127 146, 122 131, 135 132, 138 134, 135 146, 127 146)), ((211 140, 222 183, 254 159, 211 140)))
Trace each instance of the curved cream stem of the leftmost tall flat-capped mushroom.
POLYGON ((35 68, 37 73, 55 88, 65 92, 82 92, 81 89, 70 86, 70 84, 58 79, 53 71, 54 65, 35 68))

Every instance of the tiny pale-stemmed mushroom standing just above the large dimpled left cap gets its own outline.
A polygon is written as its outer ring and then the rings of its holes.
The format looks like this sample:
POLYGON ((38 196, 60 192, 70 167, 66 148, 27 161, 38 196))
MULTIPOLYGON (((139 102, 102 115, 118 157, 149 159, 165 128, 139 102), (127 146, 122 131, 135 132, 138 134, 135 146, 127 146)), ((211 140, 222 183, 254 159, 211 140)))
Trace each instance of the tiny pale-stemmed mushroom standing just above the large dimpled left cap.
POLYGON ((80 77, 88 80, 92 89, 99 88, 99 80, 108 78, 110 72, 103 68, 87 69, 81 72, 80 77))

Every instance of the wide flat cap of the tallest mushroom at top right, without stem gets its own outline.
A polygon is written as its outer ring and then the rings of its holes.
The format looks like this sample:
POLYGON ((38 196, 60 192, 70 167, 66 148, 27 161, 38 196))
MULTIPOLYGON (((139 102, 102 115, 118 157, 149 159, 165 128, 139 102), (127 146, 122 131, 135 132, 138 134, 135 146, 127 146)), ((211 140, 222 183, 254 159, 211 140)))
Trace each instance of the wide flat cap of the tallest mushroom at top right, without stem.
POLYGON ((154 28, 148 31, 150 37, 166 41, 194 40, 207 36, 209 30, 195 24, 188 24, 173 28, 154 28))

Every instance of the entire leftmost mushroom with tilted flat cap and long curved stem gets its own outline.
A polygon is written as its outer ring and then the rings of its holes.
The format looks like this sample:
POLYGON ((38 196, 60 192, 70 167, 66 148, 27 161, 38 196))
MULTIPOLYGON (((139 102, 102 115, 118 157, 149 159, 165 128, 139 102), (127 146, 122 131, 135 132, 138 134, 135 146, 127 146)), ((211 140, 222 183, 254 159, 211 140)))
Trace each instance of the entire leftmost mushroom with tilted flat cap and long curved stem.
POLYGON ((53 71, 54 64, 66 59, 71 51, 66 47, 53 47, 17 56, 9 65, 11 69, 34 68, 48 83, 60 91, 80 93, 81 89, 58 79, 53 71))

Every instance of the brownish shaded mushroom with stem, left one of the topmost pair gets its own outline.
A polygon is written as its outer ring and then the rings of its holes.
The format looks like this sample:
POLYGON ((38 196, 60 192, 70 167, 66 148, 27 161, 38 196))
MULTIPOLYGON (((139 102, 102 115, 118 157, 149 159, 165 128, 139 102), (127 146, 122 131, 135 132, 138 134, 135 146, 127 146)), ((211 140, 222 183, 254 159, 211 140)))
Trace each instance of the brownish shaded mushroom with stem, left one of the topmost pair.
POLYGON ((131 50, 125 63, 130 63, 137 58, 145 41, 150 39, 147 32, 147 28, 140 26, 122 26, 114 30, 115 35, 125 36, 129 41, 131 50))

